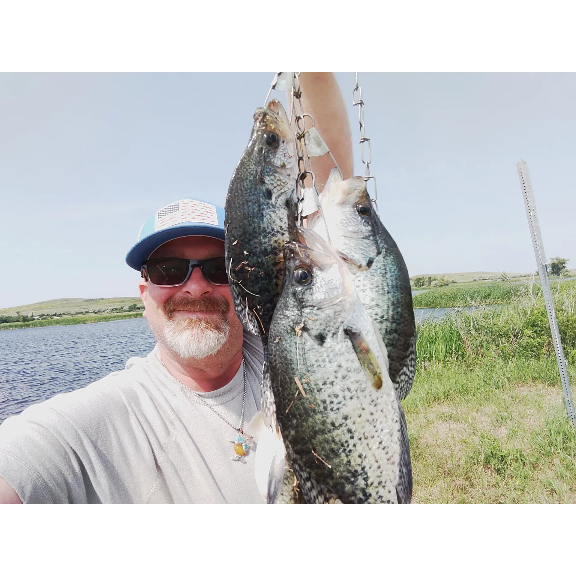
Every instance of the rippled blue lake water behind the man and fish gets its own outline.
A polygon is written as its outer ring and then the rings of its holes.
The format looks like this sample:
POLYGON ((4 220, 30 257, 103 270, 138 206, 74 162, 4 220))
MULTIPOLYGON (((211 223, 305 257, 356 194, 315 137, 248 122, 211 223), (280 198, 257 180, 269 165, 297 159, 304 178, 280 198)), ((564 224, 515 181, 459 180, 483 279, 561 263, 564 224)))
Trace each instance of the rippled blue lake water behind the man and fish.
MULTIPOLYGON (((416 323, 446 308, 414 310, 416 323)), ((0 423, 24 408, 122 370, 154 347, 145 318, 0 331, 0 423)))

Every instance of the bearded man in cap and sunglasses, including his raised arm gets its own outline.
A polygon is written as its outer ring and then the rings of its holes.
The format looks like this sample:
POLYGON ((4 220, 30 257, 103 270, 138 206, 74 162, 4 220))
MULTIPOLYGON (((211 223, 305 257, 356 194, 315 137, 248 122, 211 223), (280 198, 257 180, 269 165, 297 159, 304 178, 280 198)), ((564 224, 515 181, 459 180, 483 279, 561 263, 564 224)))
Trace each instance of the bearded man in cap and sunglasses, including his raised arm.
MULTIPOLYGON (((331 74, 301 75, 304 105, 345 177, 346 109, 331 74)), ((314 159, 320 187, 332 167, 314 159)), ((223 210, 183 199, 142 226, 126 262, 141 271, 157 339, 146 358, 0 426, 0 502, 262 503, 243 427, 260 409, 263 353, 236 317, 223 210)))

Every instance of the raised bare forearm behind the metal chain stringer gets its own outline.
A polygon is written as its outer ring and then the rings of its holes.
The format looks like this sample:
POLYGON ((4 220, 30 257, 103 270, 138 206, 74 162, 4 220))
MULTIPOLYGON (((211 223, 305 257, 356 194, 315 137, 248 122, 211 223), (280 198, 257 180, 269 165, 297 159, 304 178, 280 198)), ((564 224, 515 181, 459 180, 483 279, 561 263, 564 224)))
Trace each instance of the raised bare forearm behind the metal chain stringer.
MULTIPOLYGON (((346 105, 340 92, 336 77, 331 72, 302 72, 300 74, 302 106, 314 118, 324 142, 328 145, 344 179, 354 176, 352 156, 352 137, 346 105)), ((308 124, 306 118, 306 126, 308 124)), ((316 175, 316 187, 320 192, 328 180, 334 162, 329 154, 312 158, 312 169, 316 175)), ((309 185, 306 182, 306 185, 309 185)))

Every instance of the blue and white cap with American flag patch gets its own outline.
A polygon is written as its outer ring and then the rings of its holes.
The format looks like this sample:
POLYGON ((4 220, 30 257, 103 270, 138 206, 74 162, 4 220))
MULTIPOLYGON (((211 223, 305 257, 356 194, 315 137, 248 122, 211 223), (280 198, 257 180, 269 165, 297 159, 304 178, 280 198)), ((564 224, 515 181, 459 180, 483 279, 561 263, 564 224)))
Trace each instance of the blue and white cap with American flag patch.
POLYGON ((149 218, 138 233, 138 241, 126 255, 126 264, 141 270, 158 247, 183 236, 211 236, 224 240, 224 209, 192 198, 164 206, 149 218))

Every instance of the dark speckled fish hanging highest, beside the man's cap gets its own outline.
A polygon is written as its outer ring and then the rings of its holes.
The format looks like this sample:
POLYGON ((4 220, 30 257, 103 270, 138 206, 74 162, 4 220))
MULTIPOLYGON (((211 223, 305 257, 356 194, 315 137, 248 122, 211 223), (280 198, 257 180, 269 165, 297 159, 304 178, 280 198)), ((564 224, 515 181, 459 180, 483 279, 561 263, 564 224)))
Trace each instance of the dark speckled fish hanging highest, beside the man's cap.
POLYGON ((236 314, 266 342, 282 287, 283 248, 293 238, 297 166, 278 100, 257 108, 248 146, 232 175, 224 220, 226 264, 236 314))

